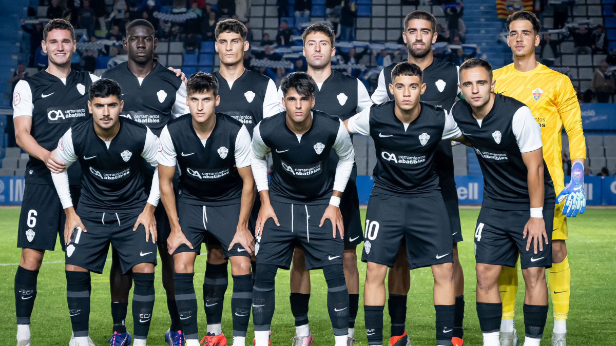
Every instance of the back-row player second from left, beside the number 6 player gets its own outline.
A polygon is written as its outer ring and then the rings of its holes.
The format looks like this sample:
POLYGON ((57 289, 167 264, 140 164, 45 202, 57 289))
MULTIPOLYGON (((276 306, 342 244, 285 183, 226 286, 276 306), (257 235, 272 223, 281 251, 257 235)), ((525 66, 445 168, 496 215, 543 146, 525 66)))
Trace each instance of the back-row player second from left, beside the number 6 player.
MULTIPOLYGON (((163 127, 173 118, 188 113, 186 107, 186 86, 176 73, 169 71, 153 58, 158 44, 154 27, 143 19, 133 20, 126 25, 124 49, 128 52, 128 61, 110 68, 102 74, 103 78, 115 79, 120 83, 124 95, 124 108, 121 116, 133 119, 160 135, 163 127)), ((150 175, 154 169, 146 166, 150 175)), ((148 179, 147 183, 151 180, 148 179)), ((166 239, 171 231, 169 220, 163 206, 155 211, 158 228, 158 252, 162 263, 163 287, 167 294, 167 308, 171 316, 171 327, 165 333, 169 345, 178 346, 179 330, 182 327, 177 313, 173 290, 173 259, 167 250, 166 239)), ((112 334, 117 333, 116 340, 129 337, 124 320, 128 310, 128 294, 131 290, 131 275, 122 275, 120 259, 115 247, 111 252, 111 316, 113 318, 112 334)), ((120 345, 120 344, 118 344, 120 345)), ((113 345, 112 345, 113 346, 113 345)))

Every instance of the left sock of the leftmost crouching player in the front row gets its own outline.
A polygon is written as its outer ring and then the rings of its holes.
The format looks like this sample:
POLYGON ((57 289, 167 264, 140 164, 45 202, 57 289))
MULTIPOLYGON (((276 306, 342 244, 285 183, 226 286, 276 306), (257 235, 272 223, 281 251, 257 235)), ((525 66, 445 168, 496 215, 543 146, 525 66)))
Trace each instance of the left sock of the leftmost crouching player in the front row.
POLYGON ((88 336, 90 322, 90 272, 69 272, 67 275, 68 315, 75 337, 88 336))

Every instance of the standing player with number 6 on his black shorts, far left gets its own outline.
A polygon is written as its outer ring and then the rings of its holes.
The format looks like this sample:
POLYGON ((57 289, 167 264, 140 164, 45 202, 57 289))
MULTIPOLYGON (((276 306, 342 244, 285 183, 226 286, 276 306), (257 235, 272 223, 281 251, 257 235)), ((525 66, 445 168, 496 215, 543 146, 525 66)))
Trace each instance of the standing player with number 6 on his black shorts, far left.
MULTIPOLYGON (((54 19, 45 25, 41 47, 49 66, 17 82, 13 94, 15 139, 30 155, 17 236, 17 247, 22 248, 14 286, 18 346, 30 345, 30 316, 45 251, 55 249, 58 235, 63 238, 65 218, 49 171, 60 172, 66 166, 52 150, 73 124, 90 118, 87 90, 98 79, 71 70, 76 41, 73 26, 66 20, 54 19)), ((76 204, 81 173, 78 165, 68 171, 76 204)))

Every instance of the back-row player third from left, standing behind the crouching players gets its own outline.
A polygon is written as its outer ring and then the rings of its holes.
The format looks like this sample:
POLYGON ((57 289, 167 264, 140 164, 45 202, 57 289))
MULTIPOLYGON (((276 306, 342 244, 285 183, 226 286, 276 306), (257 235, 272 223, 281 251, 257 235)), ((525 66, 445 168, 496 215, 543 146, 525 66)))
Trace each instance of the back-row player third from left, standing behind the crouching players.
MULTIPOLYGON (((249 42, 246 41, 248 29, 243 23, 235 19, 222 20, 216 23, 214 34, 214 47, 221 60, 221 69, 213 73, 218 79, 218 94, 221 99, 216 111, 240 121, 252 136, 259 121, 280 111, 276 84, 269 77, 244 68, 244 54, 248 52, 249 42)), ((256 222, 259 205, 257 196, 251 213, 251 225, 256 222)), ((216 239, 208 238, 206 243, 208 264, 203 283, 203 300, 208 322, 206 338, 209 345, 216 346, 226 343, 221 322, 227 291, 227 260, 216 239)))

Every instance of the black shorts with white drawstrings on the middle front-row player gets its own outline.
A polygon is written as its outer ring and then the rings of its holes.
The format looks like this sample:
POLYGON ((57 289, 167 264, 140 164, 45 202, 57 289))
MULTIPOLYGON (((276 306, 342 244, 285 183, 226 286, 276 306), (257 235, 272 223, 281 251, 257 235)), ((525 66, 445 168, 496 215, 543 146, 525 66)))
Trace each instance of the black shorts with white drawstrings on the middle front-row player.
POLYGON ((288 204, 272 201, 272 207, 280 226, 269 219, 265 222, 261 237, 257 237, 254 252, 257 265, 271 264, 288 269, 296 246, 304 248, 306 269, 318 269, 326 265, 342 265, 344 240, 336 231, 331 231, 330 220, 318 224, 329 204, 288 204))

